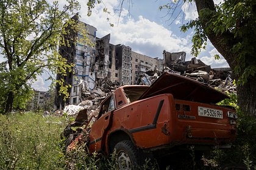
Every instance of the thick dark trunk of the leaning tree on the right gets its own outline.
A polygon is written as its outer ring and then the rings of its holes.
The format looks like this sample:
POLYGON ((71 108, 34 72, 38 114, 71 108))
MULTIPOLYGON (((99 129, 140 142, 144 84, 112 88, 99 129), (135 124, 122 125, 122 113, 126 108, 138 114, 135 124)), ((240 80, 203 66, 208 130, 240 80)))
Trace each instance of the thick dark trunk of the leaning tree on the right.
MULTIPOLYGON (((208 9, 213 13, 216 12, 215 4, 213 0, 194 0, 196 2, 197 12, 199 14, 200 10, 208 9)), ((222 34, 216 35, 210 29, 207 29, 207 22, 212 18, 210 16, 204 16, 201 18, 199 15, 199 20, 202 23, 202 27, 207 34, 208 39, 212 42, 213 46, 221 53, 222 56, 227 60, 229 66, 232 70, 240 64, 236 61, 238 57, 236 53, 232 52, 232 47, 237 43, 235 36, 230 32, 224 32, 222 34)), ((239 41, 239 40, 238 40, 239 41)), ((235 80, 238 80, 242 73, 236 73, 235 80)), ((237 86, 238 95, 238 106, 240 106, 241 111, 246 115, 252 115, 256 117, 256 76, 247 79, 247 82, 243 85, 238 84, 237 86)))

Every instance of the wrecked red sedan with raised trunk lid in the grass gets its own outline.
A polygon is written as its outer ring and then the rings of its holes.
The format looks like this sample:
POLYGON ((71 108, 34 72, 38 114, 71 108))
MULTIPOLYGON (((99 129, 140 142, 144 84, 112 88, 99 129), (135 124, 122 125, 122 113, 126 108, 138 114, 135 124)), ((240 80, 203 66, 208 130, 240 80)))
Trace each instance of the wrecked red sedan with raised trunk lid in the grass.
MULTIPOLYGON (((86 144, 90 152, 105 155, 116 149, 126 166, 138 164, 139 152, 159 156, 191 145, 202 151, 227 148, 236 137, 237 115, 232 107, 216 105, 225 98, 212 87, 172 73, 163 73, 151 86, 119 87, 102 101, 86 144)), ((88 124, 87 118, 76 120, 84 122, 88 124)), ((77 142, 79 137, 68 149, 77 142)))

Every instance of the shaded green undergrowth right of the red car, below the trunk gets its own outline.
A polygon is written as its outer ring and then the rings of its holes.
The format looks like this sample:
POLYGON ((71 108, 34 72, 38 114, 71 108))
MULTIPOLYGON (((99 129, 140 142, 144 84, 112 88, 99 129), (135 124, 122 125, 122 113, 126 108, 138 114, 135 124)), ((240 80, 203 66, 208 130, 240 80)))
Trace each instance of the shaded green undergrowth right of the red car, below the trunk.
POLYGON ((237 105, 237 95, 228 93, 230 99, 221 101, 220 105, 233 106, 238 113, 237 137, 232 143, 232 149, 216 150, 213 158, 220 164, 238 163, 245 165, 247 169, 256 166, 256 118, 244 115, 237 105))

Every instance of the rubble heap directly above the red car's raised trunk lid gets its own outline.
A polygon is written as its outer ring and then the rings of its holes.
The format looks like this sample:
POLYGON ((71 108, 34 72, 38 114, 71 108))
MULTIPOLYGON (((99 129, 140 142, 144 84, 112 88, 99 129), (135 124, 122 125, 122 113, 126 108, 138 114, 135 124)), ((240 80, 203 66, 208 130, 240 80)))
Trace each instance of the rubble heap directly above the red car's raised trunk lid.
POLYGON ((208 86, 218 88, 222 92, 236 92, 236 86, 233 84, 230 68, 212 69, 211 66, 204 64, 196 58, 183 62, 179 59, 177 61, 170 61, 170 63, 166 64, 162 72, 160 70, 145 72, 143 75, 140 75, 137 84, 150 86, 163 72, 183 75, 208 86))

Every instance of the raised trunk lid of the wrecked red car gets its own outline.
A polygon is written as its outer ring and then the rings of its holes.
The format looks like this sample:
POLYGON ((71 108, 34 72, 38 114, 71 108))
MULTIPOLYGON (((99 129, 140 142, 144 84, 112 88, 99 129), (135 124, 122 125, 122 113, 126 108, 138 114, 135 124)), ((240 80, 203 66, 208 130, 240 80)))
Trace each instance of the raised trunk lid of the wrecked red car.
POLYGON ((226 94, 206 86, 198 81, 173 73, 163 73, 141 95, 139 100, 160 94, 172 94, 179 100, 196 101, 201 103, 218 103, 225 98, 226 94))

